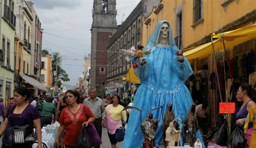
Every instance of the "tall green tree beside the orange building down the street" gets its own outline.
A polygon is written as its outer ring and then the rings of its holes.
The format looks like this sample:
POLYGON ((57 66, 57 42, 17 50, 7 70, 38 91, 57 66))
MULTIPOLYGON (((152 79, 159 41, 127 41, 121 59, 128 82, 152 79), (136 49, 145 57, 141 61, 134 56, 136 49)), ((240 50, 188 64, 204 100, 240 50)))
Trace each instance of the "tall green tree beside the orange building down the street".
MULTIPOLYGON (((57 65, 58 78, 63 81, 66 81, 66 82, 69 81, 69 75, 66 73, 66 71, 64 69, 62 69, 60 67, 61 57, 59 56, 59 53, 53 53, 52 57, 53 57, 53 60, 51 60, 52 70, 56 71, 56 65, 57 65)), ((55 84, 55 81, 56 81, 55 77, 53 79, 53 84, 55 84)), ((57 85, 59 87, 61 84, 60 84, 60 82, 57 82, 57 83, 59 84, 59 85, 57 85)))

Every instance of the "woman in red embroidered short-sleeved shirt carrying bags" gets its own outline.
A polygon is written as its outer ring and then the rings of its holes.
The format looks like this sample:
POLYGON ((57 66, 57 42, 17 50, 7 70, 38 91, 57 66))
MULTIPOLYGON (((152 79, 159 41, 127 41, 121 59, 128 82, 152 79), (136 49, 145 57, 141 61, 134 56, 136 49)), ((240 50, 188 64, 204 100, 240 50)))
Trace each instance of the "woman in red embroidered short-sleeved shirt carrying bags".
POLYGON ((65 130, 63 144, 65 148, 74 148, 83 124, 88 126, 95 118, 87 105, 80 104, 80 95, 76 91, 68 90, 65 99, 68 106, 60 114, 60 127, 54 145, 59 146, 60 136, 65 130))

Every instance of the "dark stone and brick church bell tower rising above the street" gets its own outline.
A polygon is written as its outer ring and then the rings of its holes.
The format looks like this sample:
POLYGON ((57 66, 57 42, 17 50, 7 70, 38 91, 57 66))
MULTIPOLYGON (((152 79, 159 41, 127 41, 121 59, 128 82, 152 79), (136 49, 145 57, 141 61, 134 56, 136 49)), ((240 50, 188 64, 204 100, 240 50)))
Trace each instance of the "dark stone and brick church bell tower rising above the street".
POLYGON ((107 46, 118 29, 116 23, 116 0, 93 0, 91 25, 91 88, 101 93, 107 81, 107 46))

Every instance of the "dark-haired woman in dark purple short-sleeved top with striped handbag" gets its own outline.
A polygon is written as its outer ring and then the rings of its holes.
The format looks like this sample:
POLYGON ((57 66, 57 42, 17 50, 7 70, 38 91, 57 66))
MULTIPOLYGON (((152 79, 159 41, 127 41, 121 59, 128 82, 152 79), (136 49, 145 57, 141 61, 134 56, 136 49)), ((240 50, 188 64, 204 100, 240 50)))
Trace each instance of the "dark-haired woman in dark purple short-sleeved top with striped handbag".
MULTIPOLYGON (((7 128, 9 124, 9 120, 11 126, 24 126, 31 125, 36 127, 37 139, 38 139, 38 148, 42 148, 41 140, 42 140, 42 132, 40 126, 40 114, 38 110, 31 104, 27 103, 27 100, 30 97, 30 91, 25 87, 18 87, 13 91, 14 101, 16 106, 11 106, 6 113, 6 117, 4 119, 4 123, 0 128, 0 136, 3 135, 4 130, 7 128), (14 110, 13 110, 14 108, 14 110), (13 113, 11 114, 11 110, 13 113), (9 116, 9 114, 11 114, 9 116)), ((32 144, 13 144, 13 148, 32 148, 32 144)), ((4 145, 4 141, 2 144, 2 148, 9 148, 4 145)))

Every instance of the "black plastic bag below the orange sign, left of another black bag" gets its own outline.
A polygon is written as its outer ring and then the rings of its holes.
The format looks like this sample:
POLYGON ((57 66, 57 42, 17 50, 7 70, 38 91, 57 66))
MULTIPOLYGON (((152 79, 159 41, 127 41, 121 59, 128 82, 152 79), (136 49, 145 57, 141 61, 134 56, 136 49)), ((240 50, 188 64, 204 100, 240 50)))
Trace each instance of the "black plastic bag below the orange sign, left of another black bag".
POLYGON ((205 139, 216 141, 216 143, 220 146, 227 146, 227 141, 229 139, 229 128, 227 125, 227 120, 224 119, 221 121, 220 124, 205 137, 205 139))

